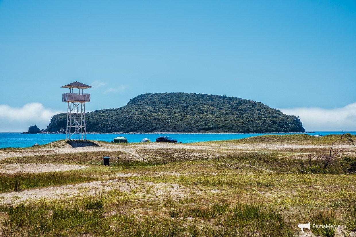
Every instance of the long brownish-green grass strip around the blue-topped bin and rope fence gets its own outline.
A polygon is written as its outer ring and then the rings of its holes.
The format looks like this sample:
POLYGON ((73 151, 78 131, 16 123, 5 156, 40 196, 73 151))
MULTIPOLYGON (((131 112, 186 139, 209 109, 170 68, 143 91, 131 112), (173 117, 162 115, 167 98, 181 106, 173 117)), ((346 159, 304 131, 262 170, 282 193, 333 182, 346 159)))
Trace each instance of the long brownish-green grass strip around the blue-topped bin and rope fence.
MULTIPOLYGON (((209 160, 211 158, 225 158, 234 162, 240 161, 252 161, 257 165, 261 165, 265 168, 272 169, 280 172, 298 171, 303 169, 311 173, 330 173, 330 174, 342 174, 347 173, 347 165, 342 162, 342 156, 335 156, 331 159, 330 165, 326 168, 316 168, 316 165, 323 163, 323 153, 312 153, 312 160, 309 160, 307 154, 304 155, 291 155, 285 152, 229 152, 220 153, 220 155, 213 152, 200 152, 191 149, 147 149, 138 150, 138 152, 146 152, 149 160, 152 162, 174 162, 180 163, 182 161, 190 160, 209 160), (344 164, 344 166, 343 166, 344 164)), ((115 152, 78 152, 78 153, 66 153, 66 154, 53 154, 53 155, 40 155, 40 156, 23 156, 6 158, 0 163, 65 163, 65 164, 84 164, 84 165, 103 165, 103 157, 109 156, 110 166, 119 166, 123 169, 137 168, 137 167, 151 167, 159 164, 152 162, 137 161, 137 157, 132 156, 130 153, 115 151, 115 152), (120 157, 117 162, 117 157, 120 157)), ((354 157, 351 157, 354 158, 354 157)), ((214 160, 215 162, 217 160, 214 160)), ((234 165, 233 162, 224 161, 220 159, 220 162, 229 163, 234 165)), ((235 163, 236 164, 236 163, 235 163)), ((162 164, 161 164, 162 165, 162 164)), ((236 164, 239 167, 244 167, 242 164, 236 164)))

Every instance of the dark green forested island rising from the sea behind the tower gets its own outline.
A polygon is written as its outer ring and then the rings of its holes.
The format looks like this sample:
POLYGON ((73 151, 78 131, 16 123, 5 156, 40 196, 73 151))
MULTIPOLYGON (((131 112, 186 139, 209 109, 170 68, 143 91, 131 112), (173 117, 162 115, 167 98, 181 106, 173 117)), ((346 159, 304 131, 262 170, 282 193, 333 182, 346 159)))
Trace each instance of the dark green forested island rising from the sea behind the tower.
MULTIPOLYGON (((90 108, 90 107, 89 107, 90 108)), ((86 113, 87 132, 303 132, 299 118, 260 102, 218 95, 147 93, 126 106, 86 113)), ((46 131, 66 126, 67 114, 51 118, 46 131)))

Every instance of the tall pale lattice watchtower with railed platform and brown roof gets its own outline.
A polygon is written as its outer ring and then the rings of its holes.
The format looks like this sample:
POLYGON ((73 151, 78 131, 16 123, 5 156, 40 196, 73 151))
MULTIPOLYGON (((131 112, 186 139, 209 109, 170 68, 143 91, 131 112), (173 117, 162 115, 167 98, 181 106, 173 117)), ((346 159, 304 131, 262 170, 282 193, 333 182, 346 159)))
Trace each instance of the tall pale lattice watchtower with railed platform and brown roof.
POLYGON ((91 86, 75 81, 61 88, 69 88, 69 93, 62 95, 62 102, 68 104, 66 139, 86 140, 85 102, 90 102, 90 94, 83 93, 83 90, 91 86), (74 89, 79 89, 79 93, 74 93, 74 89))

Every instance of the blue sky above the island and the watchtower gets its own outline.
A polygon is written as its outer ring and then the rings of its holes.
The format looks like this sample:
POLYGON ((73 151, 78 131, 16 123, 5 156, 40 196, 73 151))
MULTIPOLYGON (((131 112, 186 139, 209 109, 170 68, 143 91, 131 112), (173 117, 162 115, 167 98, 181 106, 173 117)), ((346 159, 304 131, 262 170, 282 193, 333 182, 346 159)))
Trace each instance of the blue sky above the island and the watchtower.
POLYGON ((73 81, 89 111, 208 93, 356 130, 355 39, 355 1, 0 0, 0 131, 45 128, 73 81))

